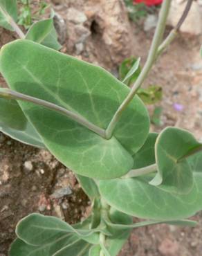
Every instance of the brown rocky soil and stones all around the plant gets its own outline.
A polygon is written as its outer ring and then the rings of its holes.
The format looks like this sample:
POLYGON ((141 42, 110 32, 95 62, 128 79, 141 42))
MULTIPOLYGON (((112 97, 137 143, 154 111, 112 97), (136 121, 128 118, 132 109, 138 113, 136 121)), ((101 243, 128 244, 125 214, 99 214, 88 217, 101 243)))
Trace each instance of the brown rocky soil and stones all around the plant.
MULTIPOLYGON (((52 2, 62 52, 103 66, 116 76, 125 57, 140 56, 144 64, 154 34, 155 15, 141 24, 134 24, 129 21, 122 0, 52 2)), ((202 61, 199 55, 202 12, 199 3, 194 2, 196 8, 192 8, 183 32, 160 57, 144 86, 163 87, 163 100, 156 105, 163 109, 160 126, 152 125, 152 130, 160 131, 172 125, 188 129, 202 140, 202 61)), ((180 12, 183 4, 183 1, 173 2, 167 33, 175 22, 176 15, 172 14, 180 12)), ((15 34, 0 28, 0 46, 13 39, 15 34)), ((2 77, 0 82, 4 84, 2 77)), ((151 115, 156 106, 148 107, 151 115)), ((8 255, 17 221, 30 212, 51 214, 75 223, 90 210, 89 200, 73 173, 50 153, 21 145, 0 134, 1 256, 8 255)), ((196 228, 161 224, 134 230, 120 256, 200 256, 202 214, 193 219, 199 221, 196 228)))

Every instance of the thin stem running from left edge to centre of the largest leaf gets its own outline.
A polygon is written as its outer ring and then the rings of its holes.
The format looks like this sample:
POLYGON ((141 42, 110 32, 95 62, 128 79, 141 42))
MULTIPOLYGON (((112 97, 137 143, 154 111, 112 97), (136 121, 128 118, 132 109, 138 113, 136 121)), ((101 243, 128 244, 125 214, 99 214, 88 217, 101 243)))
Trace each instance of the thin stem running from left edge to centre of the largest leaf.
POLYGON ((62 115, 67 116, 68 118, 71 118, 72 120, 75 120, 80 125, 83 125, 84 127, 95 132, 95 134, 102 136, 102 138, 105 138, 104 129, 101 129, 100 127, 97 127, 96 125, 93 125, 92 122, 89 122, 88 120, 86 120, 85 118, 80 116, 78 113, 73 113, 72 111, 64 109, 63 107, 59 107, 56 104, 53 104, 51 102, 47 102, 45 100, 40 100, 38 98, 34 98, 31 96, 25 95, 23 93, 17 93, 16 91, 12 91, 10 89, 5 89, 5 88, 0 88, 0 97, 13 99, 13 100, 23 100, 26 102, 32 102, 39 106, 46 107, 47 109, 57 111, 58 113, 61 113, 62 115))

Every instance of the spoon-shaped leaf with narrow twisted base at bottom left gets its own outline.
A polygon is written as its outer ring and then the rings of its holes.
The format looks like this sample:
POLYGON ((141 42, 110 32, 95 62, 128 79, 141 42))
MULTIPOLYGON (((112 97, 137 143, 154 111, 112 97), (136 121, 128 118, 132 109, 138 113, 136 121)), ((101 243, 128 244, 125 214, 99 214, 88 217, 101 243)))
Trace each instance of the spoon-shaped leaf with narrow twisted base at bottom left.
POLYGON ((69 232, 92 244, 98 244, 98 234, 94 234, 96 231, 98 230, 75 229, 56 217, 37 213, 21 219, 16 227, 17 237, 33 246, 51 243, 69 232))

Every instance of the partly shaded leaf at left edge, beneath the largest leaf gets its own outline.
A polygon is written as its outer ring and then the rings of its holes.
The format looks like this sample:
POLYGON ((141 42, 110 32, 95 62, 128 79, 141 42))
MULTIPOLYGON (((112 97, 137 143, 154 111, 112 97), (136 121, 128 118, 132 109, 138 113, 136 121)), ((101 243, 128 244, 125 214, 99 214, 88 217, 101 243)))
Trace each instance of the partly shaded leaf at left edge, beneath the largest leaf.
POLYGON ((45 147, 16 100, 0 98, 0 131, 21 143, 45 147))

